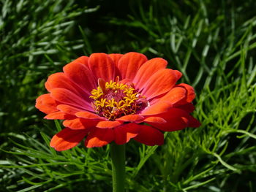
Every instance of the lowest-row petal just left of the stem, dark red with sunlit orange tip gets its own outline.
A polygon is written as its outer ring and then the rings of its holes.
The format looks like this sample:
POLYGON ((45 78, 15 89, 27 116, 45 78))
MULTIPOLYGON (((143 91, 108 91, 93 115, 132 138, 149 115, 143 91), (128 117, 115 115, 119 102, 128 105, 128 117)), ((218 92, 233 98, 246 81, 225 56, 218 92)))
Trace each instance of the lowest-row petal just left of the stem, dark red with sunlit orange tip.
POLYGON ((94 128, 86 138, 86 147, 103 147, 114 139, 114 131, 112 128, 94 128))

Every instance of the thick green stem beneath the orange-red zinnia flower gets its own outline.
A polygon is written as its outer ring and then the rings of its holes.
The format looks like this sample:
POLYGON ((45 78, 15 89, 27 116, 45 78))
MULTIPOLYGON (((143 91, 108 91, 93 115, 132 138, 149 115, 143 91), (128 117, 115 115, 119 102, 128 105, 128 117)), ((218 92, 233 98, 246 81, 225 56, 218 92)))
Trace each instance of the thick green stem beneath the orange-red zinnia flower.
POLYGON ((125 145, 110 145, 110 154, 112 158, 112 179, 113 192, 124 192, 125 178, 125 145))

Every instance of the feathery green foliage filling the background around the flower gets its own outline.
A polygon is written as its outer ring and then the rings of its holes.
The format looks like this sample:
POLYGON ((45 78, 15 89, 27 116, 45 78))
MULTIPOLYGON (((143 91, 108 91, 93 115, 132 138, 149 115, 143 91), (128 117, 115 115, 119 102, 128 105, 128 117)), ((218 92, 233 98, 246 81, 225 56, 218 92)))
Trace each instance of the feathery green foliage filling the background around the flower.
POLYGON ((61 124, 34 100, 78 55, 138 51, 184 74, 202 126, 165 134, 161 147, 129 142, 127 189, 256 191, 255 1, 122 4, 0 1, 1 189, 111 191, 109 147, 56 152, 61 124))

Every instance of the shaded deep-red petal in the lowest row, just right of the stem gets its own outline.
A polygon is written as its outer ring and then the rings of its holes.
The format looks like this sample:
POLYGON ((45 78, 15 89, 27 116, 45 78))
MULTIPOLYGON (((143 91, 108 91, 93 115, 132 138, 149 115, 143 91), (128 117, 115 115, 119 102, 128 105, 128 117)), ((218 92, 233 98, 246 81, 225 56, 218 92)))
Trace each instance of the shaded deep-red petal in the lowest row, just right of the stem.
POLYGON ((164 135, 162 132, 150 126, 140 126, 140 133, 134 139, 150 146, 164 144, 164 135))

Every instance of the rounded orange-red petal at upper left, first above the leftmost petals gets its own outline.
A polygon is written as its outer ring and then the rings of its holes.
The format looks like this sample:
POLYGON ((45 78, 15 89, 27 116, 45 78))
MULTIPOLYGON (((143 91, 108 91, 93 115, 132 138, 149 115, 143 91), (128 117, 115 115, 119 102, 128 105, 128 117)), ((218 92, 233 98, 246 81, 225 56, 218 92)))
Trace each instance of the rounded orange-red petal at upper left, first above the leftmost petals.
POLYGON ((45 88, 49 92, 53 88, 65 88, 78 96, 87 96, 87 98, 89 98, 89 94, 86 94, 83 89, 72 82, 64 73, 51 74, 45 82, 45 88))

